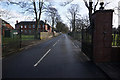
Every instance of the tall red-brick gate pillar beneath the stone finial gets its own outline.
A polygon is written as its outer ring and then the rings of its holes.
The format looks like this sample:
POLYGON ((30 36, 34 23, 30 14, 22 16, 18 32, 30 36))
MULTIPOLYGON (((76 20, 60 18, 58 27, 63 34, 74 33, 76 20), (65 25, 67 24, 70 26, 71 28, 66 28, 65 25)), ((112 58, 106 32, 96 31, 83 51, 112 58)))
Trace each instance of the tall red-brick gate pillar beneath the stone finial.
POLYGON ((111 61, 113 10, 98 10, 94 21, 93 59, 95 62, 111 61))

